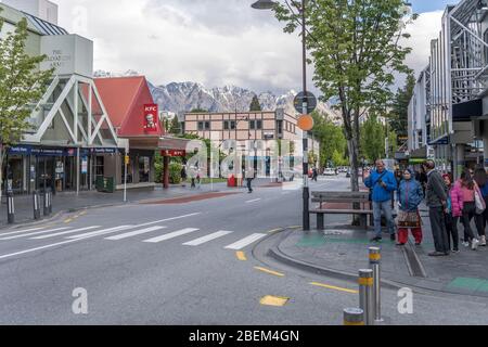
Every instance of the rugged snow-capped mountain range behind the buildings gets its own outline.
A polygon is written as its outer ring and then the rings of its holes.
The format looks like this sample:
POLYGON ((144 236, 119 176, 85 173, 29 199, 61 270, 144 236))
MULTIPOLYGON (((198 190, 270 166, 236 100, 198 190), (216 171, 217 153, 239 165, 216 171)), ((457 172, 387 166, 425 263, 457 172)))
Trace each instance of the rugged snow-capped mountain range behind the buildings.
MULTIPOLYGON (((97 70, 95 77, 124 77, 138 76, 134 70, 124 74, 97 70)), ((257 93, 235 86, 224 86, 221 88, 208 89, 197 82, 171 82, 166 86, 154 86, 147 81, 154 101, 163 112, 181 114, 195 108, 207 110, 209 112, 247 112, 251 102, 257 93)), ((287 114, 295 115, 293 101, 296 91, 290 90, 282 95, 275 95, 270 91, 257 94, 262 111, 275 111, 284 108, 287 114)), ((335 124, 342 124, 341 115, 332 110, 330 104, 319 102, 319 112, 328 115, 328 118, 335 124)))

